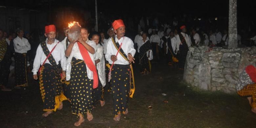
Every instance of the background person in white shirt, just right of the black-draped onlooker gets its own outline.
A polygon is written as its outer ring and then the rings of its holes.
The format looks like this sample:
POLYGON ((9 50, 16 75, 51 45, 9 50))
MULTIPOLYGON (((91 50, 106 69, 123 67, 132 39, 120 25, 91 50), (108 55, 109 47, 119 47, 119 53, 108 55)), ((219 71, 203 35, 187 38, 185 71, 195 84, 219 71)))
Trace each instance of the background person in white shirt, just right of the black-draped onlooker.
POLYGON ((152 45, 153 57, 155 60, 160 60, 159 57, 159 46, 161 43, 160 37, 157 35, 157 31, 155 29, 152 30, 153 34, 150 36, 150 42, 152 45))

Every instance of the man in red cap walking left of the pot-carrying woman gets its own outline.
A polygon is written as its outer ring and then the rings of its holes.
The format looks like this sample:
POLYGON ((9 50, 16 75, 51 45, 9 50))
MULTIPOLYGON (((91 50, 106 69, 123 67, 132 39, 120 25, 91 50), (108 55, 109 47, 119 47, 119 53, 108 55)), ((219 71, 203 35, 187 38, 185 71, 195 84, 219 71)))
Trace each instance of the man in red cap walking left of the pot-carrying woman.
POLYGON ((43 111, 46 111, 42 116, 47 117, 56 109, 62 109, 62 101, 67 99, 63 94, 59 68, 61 63, 62 78, 65 78, 67 59, 64 46, 55 39, 55 26, 45 26, 44 35, 47 39, 41 42, 36 50, 32 72, 35 80, 38 79, 37 72, 39 74, 40 92, 44 102, 43 111))

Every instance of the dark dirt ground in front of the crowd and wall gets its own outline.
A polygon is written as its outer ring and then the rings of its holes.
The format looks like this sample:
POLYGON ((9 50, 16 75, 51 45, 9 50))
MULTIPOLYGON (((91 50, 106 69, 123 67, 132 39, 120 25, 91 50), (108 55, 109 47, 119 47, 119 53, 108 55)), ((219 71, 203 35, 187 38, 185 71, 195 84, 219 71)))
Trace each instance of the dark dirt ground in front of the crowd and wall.
MULTIPOLYGON (((135 64, 136 91, 129 100, 129 114, 113 120, 113 101, 105 93, 106 104, 93 109, 89 128, 255 128, 256 114, 247 99, 237 94, 208 92, 182 81, 183 72, 163 62, 152 63, 152 73, 141 75, 135 64), (163 96, 162 94, 166 94, 163 96), (164 100, 168 101, 167 103, 164 100), (152 106, 149 109, 148 106, 152 106)), ((12 84, 14 79, 10 80, 12 84)), ((11 85, 13 86, 13 85, 11 85)), ((70 103, 62 110, 42 117, 43 102, 37 81, 29 73, 29 87, 0 92, 1 128, 73 128, 76 116, 70 103)))

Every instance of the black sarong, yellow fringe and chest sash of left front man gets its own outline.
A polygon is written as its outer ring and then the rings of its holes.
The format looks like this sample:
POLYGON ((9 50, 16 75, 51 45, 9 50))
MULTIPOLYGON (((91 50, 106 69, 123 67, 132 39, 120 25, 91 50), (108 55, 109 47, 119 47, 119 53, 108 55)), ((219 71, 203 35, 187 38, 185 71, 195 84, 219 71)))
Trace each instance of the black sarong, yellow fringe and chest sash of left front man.
MULTIPOLYGON (((42 42, 40 45, 47 56, 50 51, 46 46, 46 42, 42 42)), ((61 102, 67 100, 67 97, 63 94, 59 65, 55 62, 52 54, 48 60, 51 64, 45 63, 40 71, 40 92, 44 102, 43 111, 56 111, 61 102)))

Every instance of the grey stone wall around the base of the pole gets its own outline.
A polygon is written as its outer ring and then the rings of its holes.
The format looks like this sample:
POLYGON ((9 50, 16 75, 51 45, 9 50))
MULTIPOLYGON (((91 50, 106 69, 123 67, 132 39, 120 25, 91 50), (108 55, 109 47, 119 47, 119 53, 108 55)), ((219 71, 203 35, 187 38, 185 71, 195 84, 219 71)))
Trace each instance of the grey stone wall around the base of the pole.
POLYGON ((256 47, 214 47, 210 52, 208 49, 205 46, 189 48, 183 79, 204 90, 235 92, 239 74, 245 66, 256 62, 256 47))

